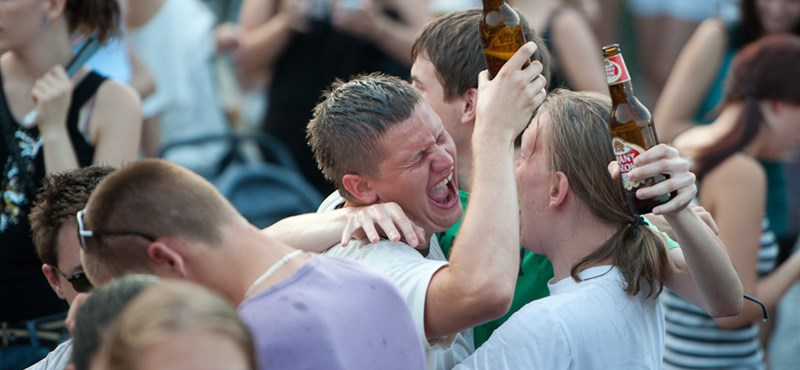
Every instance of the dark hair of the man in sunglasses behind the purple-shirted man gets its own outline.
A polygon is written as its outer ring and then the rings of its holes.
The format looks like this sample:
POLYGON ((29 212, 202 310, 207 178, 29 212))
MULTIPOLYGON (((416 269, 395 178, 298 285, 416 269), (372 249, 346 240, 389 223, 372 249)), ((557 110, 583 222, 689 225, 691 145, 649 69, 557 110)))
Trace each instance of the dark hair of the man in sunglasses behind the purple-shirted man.
POLYGON ((114 171, 109 166, 90 166, 47 176, 29 215, 36 253, 51 266, 58 266, 58 232, 65 222, 75 221, 100 180, 114 171))

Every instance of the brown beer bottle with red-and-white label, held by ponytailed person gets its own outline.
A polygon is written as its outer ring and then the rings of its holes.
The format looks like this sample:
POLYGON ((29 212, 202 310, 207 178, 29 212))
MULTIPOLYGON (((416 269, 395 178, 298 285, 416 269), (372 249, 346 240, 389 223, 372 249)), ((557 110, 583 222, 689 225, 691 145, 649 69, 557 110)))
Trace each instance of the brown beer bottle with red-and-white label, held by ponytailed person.
POLYGON ((635 168, 633 159, 658 144, 658 138, 650 111, 633 94, 633 84, 621 52, 618 44, 603 46, 608 92, 612 103, 608 130, 619 164, 628 209, 633 215, 641 215, 666 203, 671 195, 664 194, 650 199, 636 198, 636 190, 657 184, 665 180, 666 175, 656 175, 638 182, 628 180, 628 172, 635 168))

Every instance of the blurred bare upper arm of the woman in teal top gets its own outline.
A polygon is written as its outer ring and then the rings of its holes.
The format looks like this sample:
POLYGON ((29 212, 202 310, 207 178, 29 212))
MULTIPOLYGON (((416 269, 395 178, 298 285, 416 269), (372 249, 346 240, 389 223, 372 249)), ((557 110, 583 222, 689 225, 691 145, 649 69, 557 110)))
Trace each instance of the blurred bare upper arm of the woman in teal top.
POLYGON ((675 61, 653 112, 661 142, 672 142, 694 124, 694 115, 722 68, 727 47, 725 24, 718 19, 701 23, 689 39, 675 61))

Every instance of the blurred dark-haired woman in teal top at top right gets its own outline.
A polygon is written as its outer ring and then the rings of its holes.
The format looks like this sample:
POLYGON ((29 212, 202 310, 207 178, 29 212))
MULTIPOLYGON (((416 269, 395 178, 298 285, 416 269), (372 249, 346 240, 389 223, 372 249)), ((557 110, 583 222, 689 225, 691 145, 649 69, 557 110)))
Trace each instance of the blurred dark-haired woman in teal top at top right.
MULTIPOLYGON (((658 138, 672 142, 696 124, 719 114, 723 86, 733 56, 765 35, 800 36, 800 1, 740 0, 741 20, 709 19, 700 24, 681 51, 653 111, 658 138)), ((767 171, 767 213, 781 244, 778 262, 791 250, 797 235, 789 224, 790 192, 781 161, 762 161, 767 171)), ((800 196, 796 191, 794 197, 800 196)))

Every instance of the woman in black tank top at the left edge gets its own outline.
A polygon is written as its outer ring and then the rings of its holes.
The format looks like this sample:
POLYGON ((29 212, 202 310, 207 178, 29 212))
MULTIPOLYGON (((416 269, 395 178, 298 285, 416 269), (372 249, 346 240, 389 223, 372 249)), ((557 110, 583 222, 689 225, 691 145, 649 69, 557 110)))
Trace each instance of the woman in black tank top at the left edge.
POLYGON ((0 2, 0 322, 26 334, 0 350, 0 369, 19 369, 49 352, 31 344, 52 344, 29 329, 37 326, 31 320, 52 321, 50 315, 66 311, 42 276, 30 236, 28 213, 42 178, 90 164, 115 166, 138 154, 135 91, 88 69, 71 77, 65 70, 73 40, 104 41, 118 19, 116 1, 0 2), (25 119, 33 111, 36 119, 25 119))

